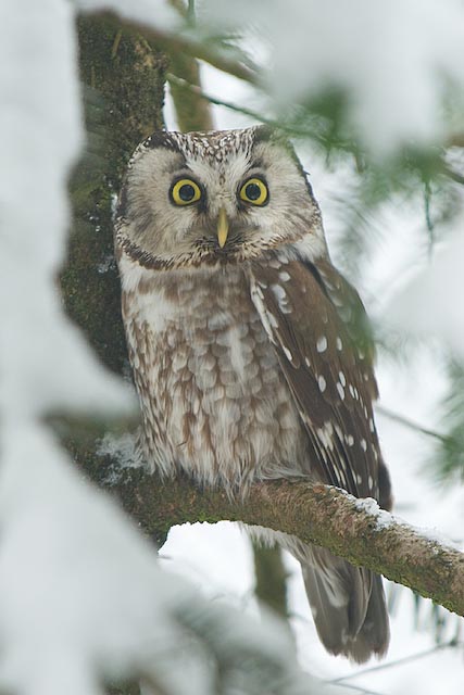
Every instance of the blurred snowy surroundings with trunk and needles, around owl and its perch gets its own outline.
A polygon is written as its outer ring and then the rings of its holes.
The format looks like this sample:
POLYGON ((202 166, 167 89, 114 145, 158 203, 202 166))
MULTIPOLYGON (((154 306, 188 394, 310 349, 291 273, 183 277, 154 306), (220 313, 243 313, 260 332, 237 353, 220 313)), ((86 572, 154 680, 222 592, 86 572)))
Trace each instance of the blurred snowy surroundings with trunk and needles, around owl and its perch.
POLYGON ((386 582, 386 659, 330 657, 288 555, 184 525, 159 572, 71 457, 117 482, 103 432, 134 419, 112 230, 131 152, 163 127, 267 123, 372 319, 394 514, 463 549, 463 1, 2 0, 0 20, 1 692, 98 695, 150 669, 161 695, 318 692, 279 690, 269 664, 291 680, 297 653, 335 694, 461 693, 462 618, 386 582), (241 622, 263 603, 289 652, 241 622))

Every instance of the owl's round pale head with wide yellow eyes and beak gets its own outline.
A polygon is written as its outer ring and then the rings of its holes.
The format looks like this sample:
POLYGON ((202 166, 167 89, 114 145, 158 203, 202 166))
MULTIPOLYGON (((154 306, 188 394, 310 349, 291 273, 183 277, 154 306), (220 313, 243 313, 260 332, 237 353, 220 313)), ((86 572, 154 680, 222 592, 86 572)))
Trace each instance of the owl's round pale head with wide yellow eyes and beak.
POLYGON ((326 252, 301 163, 265 126, 151 135, 129 162, 115 228, 133 260, 159 269, 244 262, 280 247, 326 252))

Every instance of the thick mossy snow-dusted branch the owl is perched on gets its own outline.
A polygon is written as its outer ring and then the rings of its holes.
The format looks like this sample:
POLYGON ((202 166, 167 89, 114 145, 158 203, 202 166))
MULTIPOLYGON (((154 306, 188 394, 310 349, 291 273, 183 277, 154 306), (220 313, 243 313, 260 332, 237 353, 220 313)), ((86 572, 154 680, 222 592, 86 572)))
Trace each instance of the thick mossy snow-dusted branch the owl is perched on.
MULTIPOLYGON (((101 472, 93 471, 99 484, 101 472)), ((464 553, 380 510, 374 500, 286 480, 255 483, 246 498, 230 500, 221 490, 202 491, 187 480, 163 483, 142 468, 120 472, 112 490, 150 535, 163 538, 172 526, 195 521, 263 526, 327 547, 464 615, 464 553)))

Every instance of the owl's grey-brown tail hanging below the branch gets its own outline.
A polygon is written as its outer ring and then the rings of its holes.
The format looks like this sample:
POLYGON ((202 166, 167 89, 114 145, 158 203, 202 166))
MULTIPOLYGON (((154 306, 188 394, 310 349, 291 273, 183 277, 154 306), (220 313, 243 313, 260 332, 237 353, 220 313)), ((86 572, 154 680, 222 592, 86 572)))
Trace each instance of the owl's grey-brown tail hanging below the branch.
POLYGON ((385 654, 390 629, 381 578, 322 547, 306 546, 304 555, 298 559, 326 649, 359 664, 385 654))

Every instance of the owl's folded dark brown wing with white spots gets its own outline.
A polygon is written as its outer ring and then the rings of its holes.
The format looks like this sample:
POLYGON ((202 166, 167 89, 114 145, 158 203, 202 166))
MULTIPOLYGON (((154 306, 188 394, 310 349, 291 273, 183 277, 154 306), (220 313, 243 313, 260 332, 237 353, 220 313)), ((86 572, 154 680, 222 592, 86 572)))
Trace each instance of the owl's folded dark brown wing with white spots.
POLYGON ((377 386, 356 291, 329 262, 274 258, 252 265, 251 296, 309 435, 309 472, 378 500, 386 469, 373 418, 377 386))

